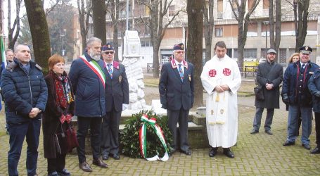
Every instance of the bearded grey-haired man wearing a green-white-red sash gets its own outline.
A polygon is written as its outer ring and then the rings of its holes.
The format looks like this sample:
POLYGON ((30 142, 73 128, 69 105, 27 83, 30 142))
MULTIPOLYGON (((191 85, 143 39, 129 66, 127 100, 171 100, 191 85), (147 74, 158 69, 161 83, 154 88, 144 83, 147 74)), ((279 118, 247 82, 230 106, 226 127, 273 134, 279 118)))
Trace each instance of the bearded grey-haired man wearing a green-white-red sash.
POLYGON ((101 39, 91 37, 87 51, 72 62, 69 77, 75 91, 75 115, 77 115, 79 146, 77 153, 79 168, 91 172, 86 161, 85 137, 90 127, 93 164, 108 168, 100 156, 100 134, 102 117, 105 115, 105 64, 101 58, 101 39))

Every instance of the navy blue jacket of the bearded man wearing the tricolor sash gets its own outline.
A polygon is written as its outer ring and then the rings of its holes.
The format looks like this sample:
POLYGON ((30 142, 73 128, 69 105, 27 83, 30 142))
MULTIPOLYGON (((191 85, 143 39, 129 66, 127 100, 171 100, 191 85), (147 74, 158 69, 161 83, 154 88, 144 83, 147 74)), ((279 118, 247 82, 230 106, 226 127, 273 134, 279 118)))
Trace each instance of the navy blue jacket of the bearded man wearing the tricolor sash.
MULTIPOLYGON (((87 53, 84 56, 88 62, 92 61, 87 53)), ((96 62, 101 70, 104 70, 105 63, 102 60, 96 62)), ((69 77, 75 92, 75 115, 80 117, 105 115, 105 86, 82 58, 72 62, 69 77)))

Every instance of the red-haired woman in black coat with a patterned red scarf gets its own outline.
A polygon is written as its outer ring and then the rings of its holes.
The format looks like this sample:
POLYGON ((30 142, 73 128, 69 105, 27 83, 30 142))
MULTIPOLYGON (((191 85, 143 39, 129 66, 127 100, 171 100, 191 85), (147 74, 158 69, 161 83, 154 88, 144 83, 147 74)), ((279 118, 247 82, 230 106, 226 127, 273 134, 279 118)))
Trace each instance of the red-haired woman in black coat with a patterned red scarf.
POLYGON ((74 115, 74 93, 65 73, 63 57, 49 58, 49 74, 44 78, 48 86, 48 102, 42 119, 44 133, 44 158, 48 161, 48 175, 70 175, 65 169, 67 149, 63 149, 57 134, 68 128, 74 115))

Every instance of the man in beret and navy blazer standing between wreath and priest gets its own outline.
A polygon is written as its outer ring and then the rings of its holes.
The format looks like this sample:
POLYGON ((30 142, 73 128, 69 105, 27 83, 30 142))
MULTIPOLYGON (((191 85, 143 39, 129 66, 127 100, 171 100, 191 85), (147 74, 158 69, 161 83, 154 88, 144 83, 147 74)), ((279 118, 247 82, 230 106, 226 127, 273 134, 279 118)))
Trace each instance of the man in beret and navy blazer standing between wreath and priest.
POLYGON ((172 153, 180 151, 191 155, 188 144, 188 113, 193 106, 193 64, 184 61, 184 44, 174 45, 174 59, 162 65, 159 82, 162 108, 167 109, 168 126, 172 132, 172 153), (179 122, 179 143, 177 123, 179 122))

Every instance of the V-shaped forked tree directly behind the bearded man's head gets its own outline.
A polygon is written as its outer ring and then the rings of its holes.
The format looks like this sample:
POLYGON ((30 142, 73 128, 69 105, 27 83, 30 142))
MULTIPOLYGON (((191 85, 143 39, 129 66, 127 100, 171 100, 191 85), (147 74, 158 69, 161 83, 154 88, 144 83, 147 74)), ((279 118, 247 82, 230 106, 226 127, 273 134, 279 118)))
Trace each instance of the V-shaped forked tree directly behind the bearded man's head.
POLYGON ((82 51, 87 46, 87 35, 89 30, 89 17, 91 13, 92 1, 77 0, 78 13, 79 13, 79 23, 80 31, 82 37, 82 51))

